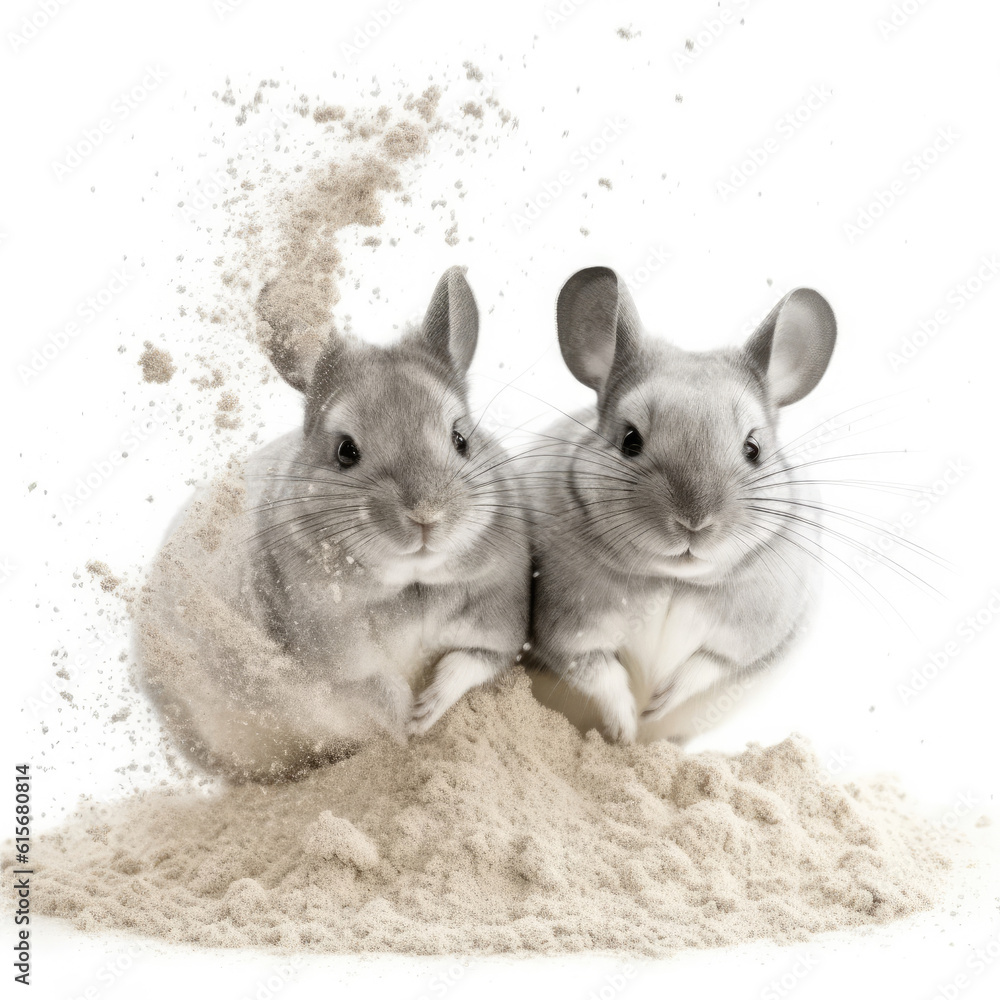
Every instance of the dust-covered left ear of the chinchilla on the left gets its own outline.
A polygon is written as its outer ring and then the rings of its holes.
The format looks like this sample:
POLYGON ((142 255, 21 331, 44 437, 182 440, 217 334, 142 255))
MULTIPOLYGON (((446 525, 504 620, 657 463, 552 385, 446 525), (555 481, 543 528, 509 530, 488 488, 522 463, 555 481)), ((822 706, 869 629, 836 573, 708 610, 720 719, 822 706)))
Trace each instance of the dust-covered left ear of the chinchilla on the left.
POLYGON ((316 364, 337 343, 328 316, 310 317, 308 302, 312 286, 298 287, 278 278, 266 284, 257 296, 257 336, 278 374, 299 392, 308 393, 316 364), (310 320, 314 319, 315 322, 310 320))

